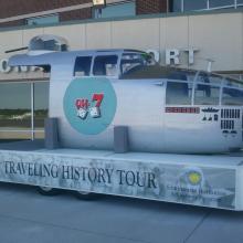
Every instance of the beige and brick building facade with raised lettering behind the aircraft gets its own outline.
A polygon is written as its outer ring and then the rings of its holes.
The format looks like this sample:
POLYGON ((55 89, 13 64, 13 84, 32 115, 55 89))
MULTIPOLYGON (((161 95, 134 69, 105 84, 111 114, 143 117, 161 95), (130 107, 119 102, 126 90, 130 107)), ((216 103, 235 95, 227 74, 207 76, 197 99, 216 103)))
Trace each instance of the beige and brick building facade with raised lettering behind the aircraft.
POLYGON ((9 50, 41 34, 70 50, 138 49, 162 65, 243 78, 243 0, 0 0, 0 139, 43 137, 49 74, 11 68, 9 50))

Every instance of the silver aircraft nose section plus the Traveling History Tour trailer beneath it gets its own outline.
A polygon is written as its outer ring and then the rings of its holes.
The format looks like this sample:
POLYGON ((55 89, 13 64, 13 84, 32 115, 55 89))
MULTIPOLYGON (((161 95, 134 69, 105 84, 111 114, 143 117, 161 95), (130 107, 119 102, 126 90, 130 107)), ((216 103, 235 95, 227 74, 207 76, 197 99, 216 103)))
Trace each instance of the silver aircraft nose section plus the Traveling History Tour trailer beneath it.
POLYGON ((9 64, 51 72, 49 118, 44 144, 0 145, 1 181, 243 210, 241 81, 47 35, 9 64))

